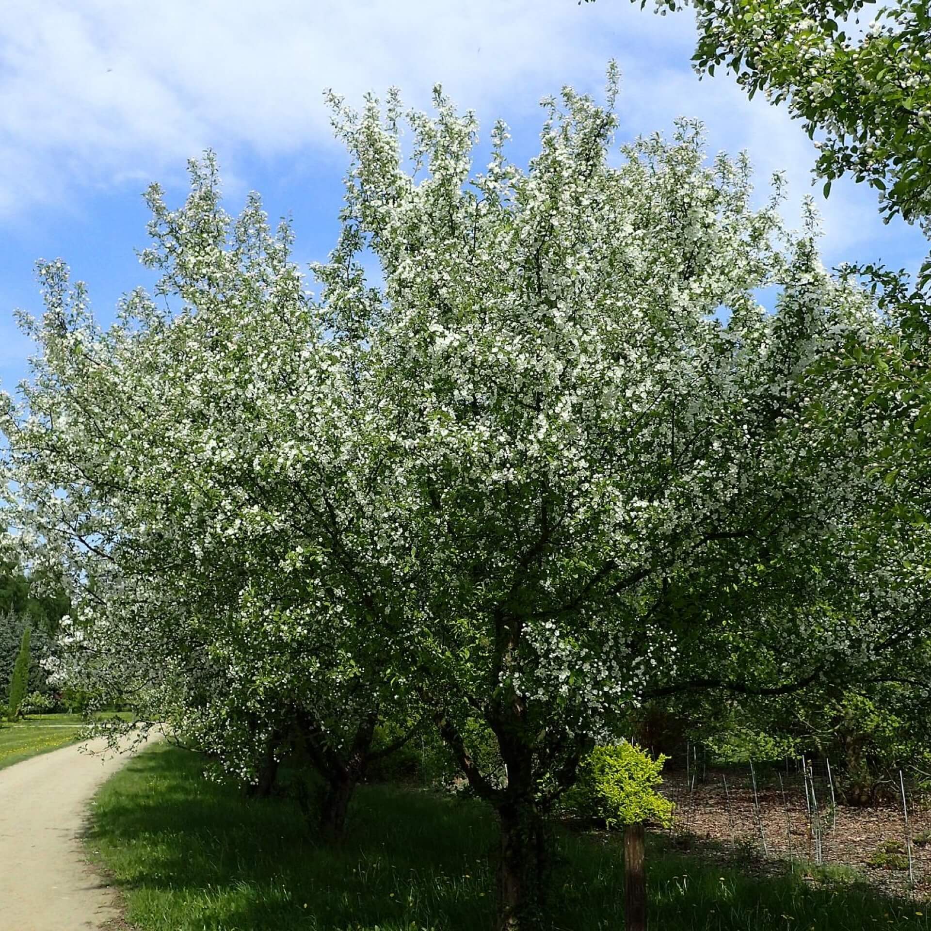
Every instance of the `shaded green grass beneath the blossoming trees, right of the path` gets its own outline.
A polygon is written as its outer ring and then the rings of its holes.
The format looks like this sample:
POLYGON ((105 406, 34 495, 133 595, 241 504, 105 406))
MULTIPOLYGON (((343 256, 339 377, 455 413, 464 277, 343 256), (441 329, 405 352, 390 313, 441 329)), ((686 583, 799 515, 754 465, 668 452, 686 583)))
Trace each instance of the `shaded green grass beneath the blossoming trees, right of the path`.
MULTIPOLYGON (((297 807, 247 801, 165 745, 97 796, 88 847, 142 931, 481 931, 492 926, 492 816, 480 803, 363 787, 349 836, 328 850, 297 807)), ((621 844, 560 832, 555 927, 623 927, 621 844)), ((651 923, 664 931, 927 929, 922 905, 849 882, 754 878, 651 839, 651 923)), ((830 877, 822 877, 829 879, 830 877)))

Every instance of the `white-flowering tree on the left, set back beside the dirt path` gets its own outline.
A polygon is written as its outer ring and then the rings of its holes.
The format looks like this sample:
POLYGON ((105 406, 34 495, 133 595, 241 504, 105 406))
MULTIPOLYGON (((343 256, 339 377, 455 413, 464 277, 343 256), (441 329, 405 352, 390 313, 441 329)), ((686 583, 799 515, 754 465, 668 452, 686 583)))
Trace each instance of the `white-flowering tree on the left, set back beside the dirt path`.
POLYGON ((226 216, 212 159, 192 166, 182 209, 155 188, 149 200, 143 261, 178 313, 135 291, 101 331, 55 262, 39 269, 45 316, 23 320, 42 353, 7 409, 7 465, 21 542, 41 538, 74 586, 56 672, 103 704, 132 697, 260 790, 298 745, 338 835, 365 765, 391 748, 371 748, 390 701, 371 679, 378 657, 333 575, 300 572, 316 531, 282 504, 304 429, 293 418, 312 398, 305 384, 289 406, 281 391, 296 367, 325 372, 331 348, 287 227, 273 235, 257 198, 226 216))

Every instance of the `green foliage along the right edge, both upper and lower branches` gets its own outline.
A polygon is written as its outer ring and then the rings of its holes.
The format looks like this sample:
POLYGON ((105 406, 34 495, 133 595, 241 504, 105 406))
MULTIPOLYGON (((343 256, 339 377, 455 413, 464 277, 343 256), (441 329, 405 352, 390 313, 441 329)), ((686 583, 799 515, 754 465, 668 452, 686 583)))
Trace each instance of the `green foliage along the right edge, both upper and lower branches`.
MULTIPOLYGON (((645 5, 645 0, 641 6, 645 5)), ((727 68, 749 97, 785 101, 819 154, 825 196, 843 175, 869 183, 886 221, 896 215, 931 232, 931 9, 924 0, 656 0, 664 15, 694 7, 699 72, 727 68), (867 20, 870 20, 869 22, 867 20)), ((888 442, 874 468, 928 513, 931 449, 931 259, 915 279, 882 264, 862 272, 896 323, 874 351, 857 348, 843 365, 868 369, 864 403, 884 418, 888 442), (904 336, 904 338, 903 338, 904 336)))

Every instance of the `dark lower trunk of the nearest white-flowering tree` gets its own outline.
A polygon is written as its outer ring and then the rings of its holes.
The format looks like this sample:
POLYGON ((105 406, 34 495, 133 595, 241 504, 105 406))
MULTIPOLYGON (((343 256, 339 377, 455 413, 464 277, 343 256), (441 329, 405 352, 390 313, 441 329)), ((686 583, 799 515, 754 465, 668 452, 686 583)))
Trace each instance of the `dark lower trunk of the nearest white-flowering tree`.
POLYGON ((497 931, 538 931, 548 848, 546 826, 533 802, 508 802, 498 810, 501 859, 498 864, 497 931))

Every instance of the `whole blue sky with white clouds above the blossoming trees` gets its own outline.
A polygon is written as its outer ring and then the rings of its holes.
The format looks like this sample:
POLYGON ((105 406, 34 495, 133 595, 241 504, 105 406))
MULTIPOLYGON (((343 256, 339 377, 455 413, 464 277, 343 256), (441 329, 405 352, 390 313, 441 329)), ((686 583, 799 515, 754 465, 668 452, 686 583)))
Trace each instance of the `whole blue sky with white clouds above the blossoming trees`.
POLYGON ((0 19, 0 384, 26 371, 30 344, 15 307, 38 312, 34 262, 63 258, 88 282, 97 314, 146 284, 142 190, 184 194, 188 157, 214 149, 228 209, 254 189, 273 218, 290 213, 302 262, 333 243, 346 159, 324 88, 350 101, 401 88, 426 107, 441 82, 484 128, 510 124, 512 156, 533 155, 537 101, 565 84, 600 92, 607 61, 623 91, 619 138, 705 121, 708 151, 747 149, 761 197, 789 177, 789 222, 808 192, 824 217, 830 264, 883 260, 914 267, 924 239, 885 226, 875 196, 835 182, 811 186, 816 152, 784 109, 747 101, 733 78, 699 81, 689 58, 691 12, 656 16, 626 0, 5 0, 0 19))

